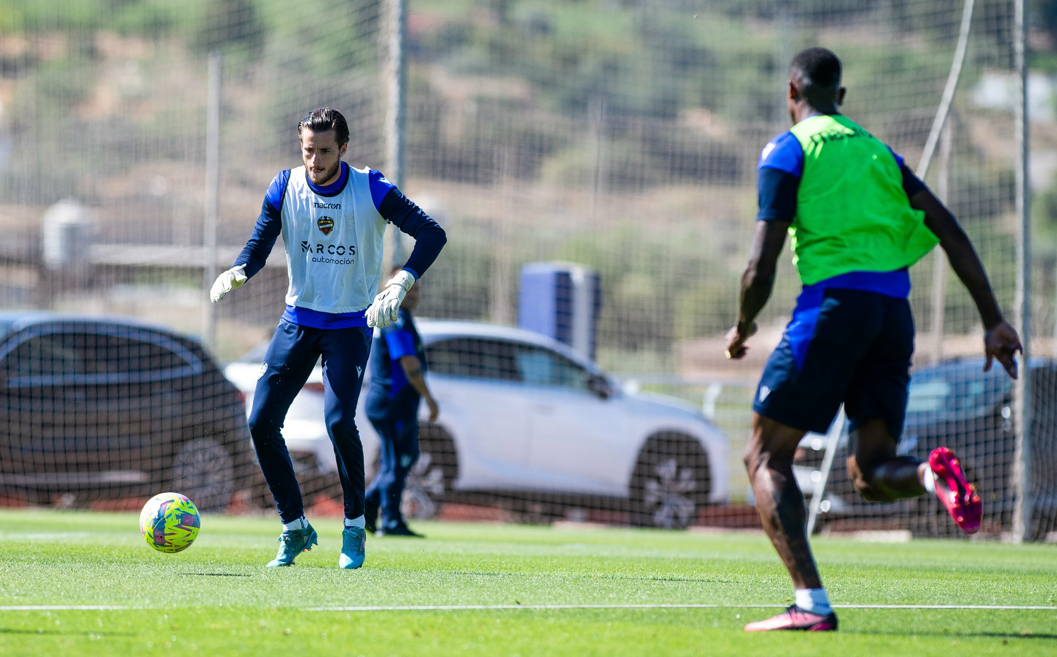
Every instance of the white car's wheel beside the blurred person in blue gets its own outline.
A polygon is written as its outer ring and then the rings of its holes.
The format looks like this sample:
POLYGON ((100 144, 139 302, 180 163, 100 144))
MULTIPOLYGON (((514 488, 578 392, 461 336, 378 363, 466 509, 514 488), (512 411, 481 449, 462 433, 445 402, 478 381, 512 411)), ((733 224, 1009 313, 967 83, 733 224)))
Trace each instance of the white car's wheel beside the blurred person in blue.
POLYGON ((419 459, 408 472, 401 512, 405 518, 435 518, 458 474, 451 436, 437 425, 424 423, 419 429, 419 459))

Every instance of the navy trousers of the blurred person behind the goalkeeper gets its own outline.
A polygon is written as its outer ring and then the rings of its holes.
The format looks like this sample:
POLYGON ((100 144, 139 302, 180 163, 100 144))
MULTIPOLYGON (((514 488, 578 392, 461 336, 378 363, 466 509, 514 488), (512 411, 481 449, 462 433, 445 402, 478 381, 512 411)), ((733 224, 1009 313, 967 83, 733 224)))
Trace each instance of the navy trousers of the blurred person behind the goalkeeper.
POLYGON ((378 473, 371 482, 366 499, 382 509, 382 528, 393 529, 404 522, 401 498, 408 472, 419 459, 419 418, 416 409, 390 417, 371 418, 378 432, 378 473))

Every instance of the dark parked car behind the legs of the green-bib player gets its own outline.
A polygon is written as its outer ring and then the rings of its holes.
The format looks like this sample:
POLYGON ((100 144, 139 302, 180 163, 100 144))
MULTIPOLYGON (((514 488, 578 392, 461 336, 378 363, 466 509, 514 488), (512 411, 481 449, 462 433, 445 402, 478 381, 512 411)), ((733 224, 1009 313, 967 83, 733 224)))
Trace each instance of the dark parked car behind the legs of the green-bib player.
MULTIPOLYGON (((897 449, 903 454, 928 458, 934 448, 950 447, 983 498, 983 530, 1008 530, 1015 506, 1014 381, 1000 364, 983 372, 983 363, 982 358, 958 359, 914 371, 897 449)), ((1032 359, 1031 376, 1031 531, 1041 539, 1057 530, 1057 363, 1032 359)), ((809 434, 800 444, 797 465, 816 469, 822 459, 823 443, 819 436, 809 434)), ((892 504, 863 501, 848 478, 847 457, 846 429, 833 459, 826 494, 829 504, 822 504, 828 512, 820 514, 821 522, 852 527, 870 526, 872 521, 876 526, 898 525, 922 536, 959 533, 933 495, 892 504)), ((798 478, 803 473, 801 470, 798 478)))

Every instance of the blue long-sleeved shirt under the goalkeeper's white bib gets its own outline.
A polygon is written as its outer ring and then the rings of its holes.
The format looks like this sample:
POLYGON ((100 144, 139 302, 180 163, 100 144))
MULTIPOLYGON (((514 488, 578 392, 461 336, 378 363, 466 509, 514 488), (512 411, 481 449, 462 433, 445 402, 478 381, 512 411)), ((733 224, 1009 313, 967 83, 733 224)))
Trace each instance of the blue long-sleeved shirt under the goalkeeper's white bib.
MULTIPOLYGON (((416 280, 422 278, 426 269, 437 260, 441 249, 447 242, 444 229, 419 206, 408 200, 395 185, 386 180, 379 171, 370 170, 369 184, 371 200, 383 219, 392 223, 403 232, 414 238, 414 248, 408 258, 404 269, 416 280)), ((341 163, 341 172, 337 181, 330 185, 317 186, 309 181, 312 191, 333 195, 349 181, 349 165, 341 163)), ((246 246, 239 254, 233 266, 246 265, 243 269, 246 277, 253 277, 261 270, 268 255, 275 247, 275 241, 282 232, 282 199, 290 182, 290 169, 276 174, 264 193, 261 212, 254 226, 254 232, 246 246)), ((366 326, 364 313, 323 313, 288 305, 282 318, 289 322, 315 328, 347 328, 366 326)))

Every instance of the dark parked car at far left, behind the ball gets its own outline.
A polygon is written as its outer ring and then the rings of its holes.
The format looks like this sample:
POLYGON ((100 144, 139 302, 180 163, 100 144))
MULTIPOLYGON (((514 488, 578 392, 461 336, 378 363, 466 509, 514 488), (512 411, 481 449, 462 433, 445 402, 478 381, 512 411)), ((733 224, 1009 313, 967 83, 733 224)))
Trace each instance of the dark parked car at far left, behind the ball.
POLYGON ((134 319, 0 314, 0 494, 182 492, 224 508, 256 470, 241 393, 191 338, 134 319))

